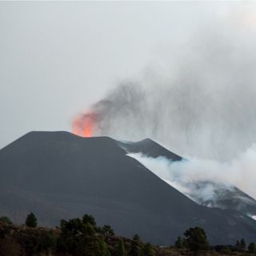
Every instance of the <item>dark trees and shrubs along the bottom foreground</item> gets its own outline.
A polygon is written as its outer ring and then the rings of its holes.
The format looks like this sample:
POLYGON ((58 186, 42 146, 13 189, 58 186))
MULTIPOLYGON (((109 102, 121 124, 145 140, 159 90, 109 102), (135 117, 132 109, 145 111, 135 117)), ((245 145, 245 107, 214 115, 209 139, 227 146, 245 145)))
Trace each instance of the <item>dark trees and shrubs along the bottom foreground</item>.
POLYGON ((0 218, 0 256, 175 256, 175 255, 256 255, 256 243, 246 246, 242 238, 234 246, 210 246, 206 232, 190 228, 174 246, 153 246, 138 234, 123 238, 111 226, 97 226, 94 217, 61 220, 55 229, 37 227, 33 213, 26 224, 15 226, 10 218, 0 218))

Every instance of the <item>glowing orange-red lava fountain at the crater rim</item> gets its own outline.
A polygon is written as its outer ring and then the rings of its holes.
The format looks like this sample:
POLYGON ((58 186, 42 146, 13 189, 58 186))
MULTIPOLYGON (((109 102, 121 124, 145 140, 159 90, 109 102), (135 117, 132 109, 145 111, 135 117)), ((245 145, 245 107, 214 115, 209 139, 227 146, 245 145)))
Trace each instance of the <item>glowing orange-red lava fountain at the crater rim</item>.
POLYGON ((82 116, 74 119, 73 133, 82 137, 92 137, 94 135, 95 122, 95 114, 83 114, 82 116))

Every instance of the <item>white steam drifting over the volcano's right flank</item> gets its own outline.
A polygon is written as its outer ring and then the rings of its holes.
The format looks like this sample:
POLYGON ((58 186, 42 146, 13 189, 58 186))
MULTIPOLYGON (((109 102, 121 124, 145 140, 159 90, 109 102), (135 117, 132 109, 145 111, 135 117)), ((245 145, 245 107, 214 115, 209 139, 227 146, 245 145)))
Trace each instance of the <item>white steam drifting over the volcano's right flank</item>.
MULTIPOLYGON (((137 159, 154 174, 190 198, 196 200, 214 200, 214 190, 237 186, 253 198, 256 198, 256 146, 230 162, 191 158, 178 162, 158 157, 148 158, 142 154, 128 154, 137 159), (196 186, 198 182, 214 182, 206 186, 196 186), (217 187, 216 187, 217 186, 217 187)), ((200 184, 200 183, 199 183, 200 184)))

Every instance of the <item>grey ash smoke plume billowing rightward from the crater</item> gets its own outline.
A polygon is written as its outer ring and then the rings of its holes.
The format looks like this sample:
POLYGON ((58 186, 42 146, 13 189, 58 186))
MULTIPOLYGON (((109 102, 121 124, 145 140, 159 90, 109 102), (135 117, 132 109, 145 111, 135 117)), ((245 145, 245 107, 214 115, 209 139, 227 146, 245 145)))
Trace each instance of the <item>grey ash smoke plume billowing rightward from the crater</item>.
POLYGON ((256 38, 255 27, 238 23, 214 21, 170 43, 167 61, 91 106, 93 135, 152 138, 197 158, 230 160, 244 152, 256 142, 256 38))

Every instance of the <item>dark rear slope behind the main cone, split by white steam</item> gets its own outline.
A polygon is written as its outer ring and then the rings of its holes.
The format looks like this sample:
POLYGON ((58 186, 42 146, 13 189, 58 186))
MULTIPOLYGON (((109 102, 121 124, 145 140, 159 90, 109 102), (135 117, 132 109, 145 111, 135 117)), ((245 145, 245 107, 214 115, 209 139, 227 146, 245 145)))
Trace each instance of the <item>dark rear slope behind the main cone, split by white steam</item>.
MULTIPOLYGON (((186 160, 170 152, 170 150, 166 150, 166 148, 152 141, 150 138, 146 138, 140 142, 118 142, 118 145, 126 150, 127 153, 142 153, 150 158, 165 157, 173 162, 186 160)), ((242 190, 239 190, 236 186, 209 180, 188 182, 187 186, 193 188, 192 191, 195 191, 195 193, 186 195, 202 206, 231 210, 236 215, 256 216, 256 200, 242 190), (211 199, 203 199, 201 197, 200 191, 206 190, 207 186, 211 186, 211 189, 214 190, 214 196, 211 199)))

